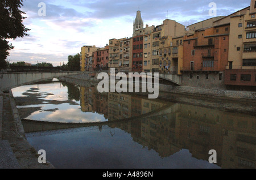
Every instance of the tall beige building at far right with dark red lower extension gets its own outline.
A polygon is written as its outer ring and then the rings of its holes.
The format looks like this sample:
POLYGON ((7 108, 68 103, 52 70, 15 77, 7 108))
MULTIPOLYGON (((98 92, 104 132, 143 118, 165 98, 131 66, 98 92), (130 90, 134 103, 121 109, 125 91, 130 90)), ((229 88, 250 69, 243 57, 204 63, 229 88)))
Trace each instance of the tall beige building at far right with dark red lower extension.
POLYGON ((256 91, 256 1, 230 17, 229 58, 225 85, 228 89, 256 91))

